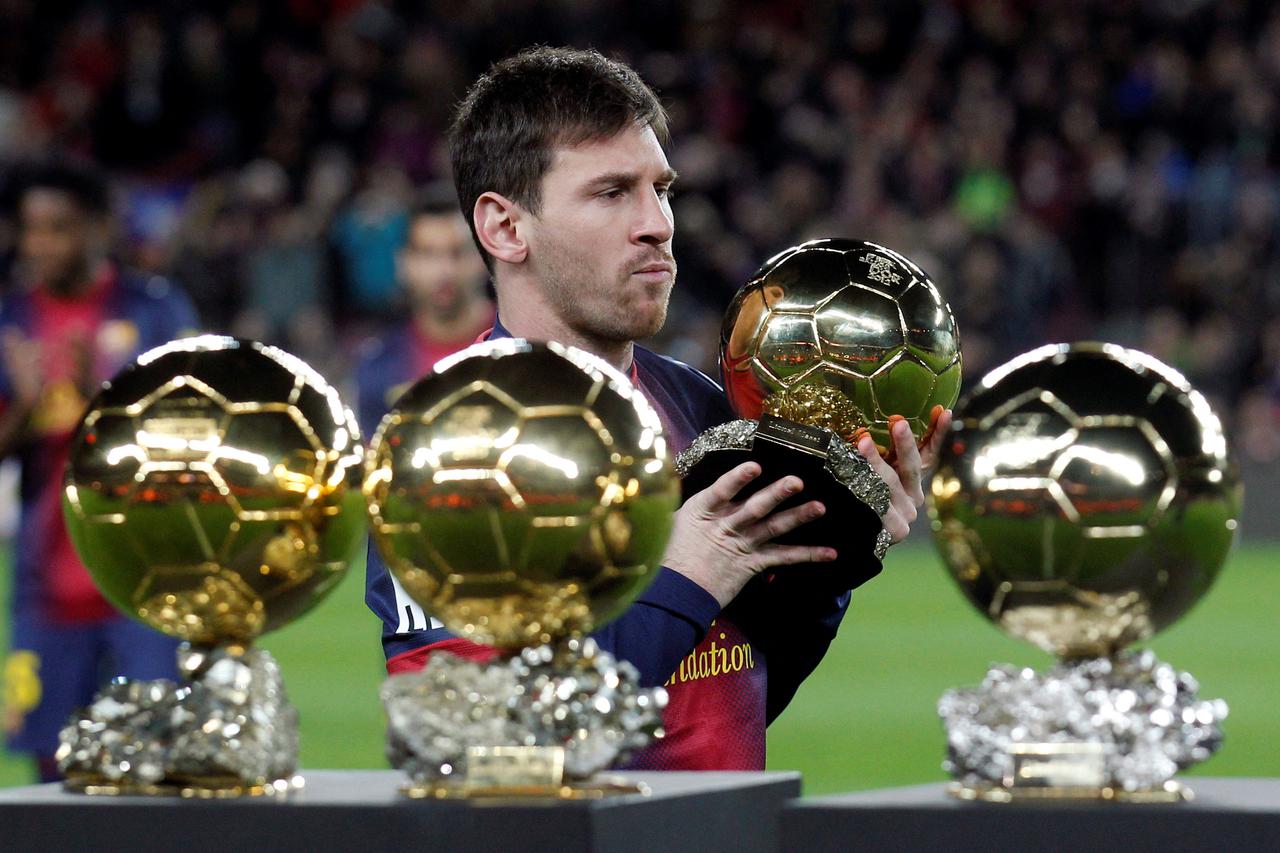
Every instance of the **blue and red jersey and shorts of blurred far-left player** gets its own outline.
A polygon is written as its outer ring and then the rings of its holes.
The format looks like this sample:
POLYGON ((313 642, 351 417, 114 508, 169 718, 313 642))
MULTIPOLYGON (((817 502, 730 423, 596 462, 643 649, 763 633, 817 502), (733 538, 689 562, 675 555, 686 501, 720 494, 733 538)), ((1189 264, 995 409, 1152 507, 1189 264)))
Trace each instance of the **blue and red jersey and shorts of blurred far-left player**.
MULTIPOLYGON (((20 715, 13 749, 47 756, 77 706, 116 675, 174 678, 177 642, 122 616, 102 598, 63 521, 63 467, 86 394, 134 356, 196 328, 191 301, 157 277, 106 266, 76 296, 17 292, 0 306, 0 339, 40 345, 29 365, 41 396, 14 450, 20 516, 13 551, 13 628, 5 708, 20 715)), ((0 411, 14 378, 0 360, 0 411)), ((12 721, 10 721, 12 725, 12 721)))

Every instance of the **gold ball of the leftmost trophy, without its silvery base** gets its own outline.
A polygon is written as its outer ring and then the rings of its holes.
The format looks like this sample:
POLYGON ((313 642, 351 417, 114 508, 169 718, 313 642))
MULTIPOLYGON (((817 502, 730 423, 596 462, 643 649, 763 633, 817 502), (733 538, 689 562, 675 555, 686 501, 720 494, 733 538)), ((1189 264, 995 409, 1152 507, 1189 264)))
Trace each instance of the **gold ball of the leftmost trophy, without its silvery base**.
POLYGON ((192 643, 247 643, 342 579, 365 533, 361 461, 355 418, 301 360, 186 338, 90 403, 63 511, 122 611, 192 643))

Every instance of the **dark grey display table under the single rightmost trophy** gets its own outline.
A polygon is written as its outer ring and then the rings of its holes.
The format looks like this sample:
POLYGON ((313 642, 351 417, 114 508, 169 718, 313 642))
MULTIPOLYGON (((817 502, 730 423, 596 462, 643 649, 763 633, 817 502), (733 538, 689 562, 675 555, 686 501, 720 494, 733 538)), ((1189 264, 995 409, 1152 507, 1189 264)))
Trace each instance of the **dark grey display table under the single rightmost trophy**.
POLYGON ((1280 850, 1280 779, 1188 777, 1175 804, 966 803, 946 785, 797 800, 782 809, 783 850, 1280 850))

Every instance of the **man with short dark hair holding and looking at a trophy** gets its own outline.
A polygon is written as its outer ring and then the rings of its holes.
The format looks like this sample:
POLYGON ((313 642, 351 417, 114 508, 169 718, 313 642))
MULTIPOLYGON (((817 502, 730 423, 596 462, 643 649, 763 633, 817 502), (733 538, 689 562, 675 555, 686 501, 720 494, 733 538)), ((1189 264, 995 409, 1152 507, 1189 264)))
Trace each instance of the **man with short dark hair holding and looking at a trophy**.
MULTIPOLYGON (((561 341, 628 373, 678 451, 733 414, 713 382, 635 345, 662 328, 676 278, 676 174, 666 136, 666 114, 634 70, 594 51, 540 47, 498 63, 472 86, 451 132, 451 154, 458 199, 498 295, 492 336, 561 341)), ((936 423, 929 460, 948 418, 936 423)), ((893 439, 896 470, 869 437, 859 451, 890 484, 893 506, 884 523, 901 539, 923 502, 922 455, 906 424, 893 439)), ((667 736, 634 766, 763 768, 765 725, 817 666, 847 607, 847 589, 823 574, 833 547, 773 542, 824 507, 810 501, 778 511, 803 488, 796 476, 736 500, 759 474, 745 462, 686 501, 653 585, 595 634, 603 648, 636 665, 644 684, 669 690, 667 736), (726 608, 751 578, 782 566, 795 566, 777 575, 780 589, 787 587, 777 596, 782 606, 751 613, 751 633, 744 633, 726 608), (726 648, 740 667, 681 665, 718 660, 726 648)), ((753 598, 759 607, 768 597, 753 598)), ((421 611, 376 560, 367 601, 384 620, 390 672, 419 669, 435 651, 494 653, 449 637, 438 622, 415 630, 424 626, 421 611)))

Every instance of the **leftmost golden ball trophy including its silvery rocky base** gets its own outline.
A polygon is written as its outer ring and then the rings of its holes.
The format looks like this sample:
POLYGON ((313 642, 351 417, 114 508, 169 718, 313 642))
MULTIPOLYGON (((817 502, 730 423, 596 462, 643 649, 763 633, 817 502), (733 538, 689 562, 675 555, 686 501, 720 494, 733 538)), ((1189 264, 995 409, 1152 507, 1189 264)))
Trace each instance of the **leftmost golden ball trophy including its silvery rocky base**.
POLYGON ((118 680, 61 731, 72 790, 234 797, 301 784, 297 711, 252 647, 320 602, 365 534, 355 418, 306 364, 204 336, 90 403, 63 511, 124 613, 184 640, 182 685, 118 680))

